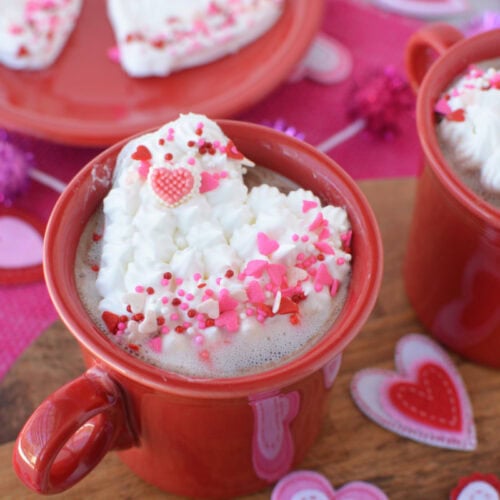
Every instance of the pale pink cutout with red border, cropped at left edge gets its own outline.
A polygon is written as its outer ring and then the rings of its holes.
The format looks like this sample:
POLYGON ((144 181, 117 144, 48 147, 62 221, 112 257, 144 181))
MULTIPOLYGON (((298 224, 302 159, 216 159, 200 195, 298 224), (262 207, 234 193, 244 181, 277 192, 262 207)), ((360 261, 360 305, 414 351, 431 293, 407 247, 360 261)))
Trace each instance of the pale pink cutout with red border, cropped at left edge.
POLYGON ((45 225, 15 208, 0 209, 0 284, 43 279, 42 248, 45 225))

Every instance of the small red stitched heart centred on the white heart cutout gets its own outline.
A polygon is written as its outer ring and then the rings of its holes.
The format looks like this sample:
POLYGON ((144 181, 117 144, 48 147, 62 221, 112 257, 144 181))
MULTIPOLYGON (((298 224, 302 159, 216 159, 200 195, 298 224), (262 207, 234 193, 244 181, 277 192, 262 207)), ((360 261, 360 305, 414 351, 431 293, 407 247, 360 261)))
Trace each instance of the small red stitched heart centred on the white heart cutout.
POLYGON ((434 363, 422 365, 417 382, 394 382, 388 388, 392 404, 426 425, 459 431, 462 414, 457 390, 448 373, 434 363))

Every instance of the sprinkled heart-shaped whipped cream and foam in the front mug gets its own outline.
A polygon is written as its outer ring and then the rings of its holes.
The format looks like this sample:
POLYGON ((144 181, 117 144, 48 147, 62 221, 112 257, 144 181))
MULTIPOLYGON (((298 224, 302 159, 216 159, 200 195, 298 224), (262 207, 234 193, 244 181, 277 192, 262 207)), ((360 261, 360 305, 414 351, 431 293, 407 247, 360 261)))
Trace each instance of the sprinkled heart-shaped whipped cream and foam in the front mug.
POLYGON ((346 211, 303 189, 249 191, 247 168, 194 114, 123 148, 104 229, 79 252, 89 273, 98 265, 113 340, 170 370, 227 376, 280 362, 331 324, 350 279, 346 211))

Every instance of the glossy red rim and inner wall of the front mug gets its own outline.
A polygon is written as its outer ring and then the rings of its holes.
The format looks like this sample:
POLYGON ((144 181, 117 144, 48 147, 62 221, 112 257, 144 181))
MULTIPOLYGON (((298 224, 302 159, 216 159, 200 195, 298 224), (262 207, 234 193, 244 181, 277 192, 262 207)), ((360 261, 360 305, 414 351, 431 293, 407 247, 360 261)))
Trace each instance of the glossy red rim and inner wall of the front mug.
POLYGON ((334 324, 308 351, 267 371, 232 378, 193 378, 165 372, 134 358, 114 345, 92 322, 76 289, 76 248, 88 219, 111 186, 116 156, 130 138, 101 153, 75 176, 53 210, 44 247, 46 282, 52 301, 68 329, 96 362, 126 372, 141 384, 199 397, 234 397, 274 390, 321 368, 359 332, 374 305, 382 275, 382 245, 375 217, 362 192, 341 167, 307 143, 284 133, 231 120, 218 123, 237 148, 256 164, 310 189, 322 203, 347 209, 353 231, 353 266, 346 304, 334 324))

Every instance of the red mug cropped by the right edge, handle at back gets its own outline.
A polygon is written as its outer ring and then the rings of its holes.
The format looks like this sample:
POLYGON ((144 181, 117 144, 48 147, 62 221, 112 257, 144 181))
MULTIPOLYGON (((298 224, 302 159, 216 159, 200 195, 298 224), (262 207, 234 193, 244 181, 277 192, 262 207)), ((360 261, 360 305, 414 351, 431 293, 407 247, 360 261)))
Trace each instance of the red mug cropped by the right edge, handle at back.
POLYGON ((425 153, 404 263, 424 326, 474 362, 500 368, 500 210, 453 173, 436 136, 434 106, 470 64, 500 58, 500 30, 463 38, 446 24, 416 32, 406 50, 425 153), (440 54, 429 68, 432 53, 440 54), (426 72, 426 70, 428 71, 426 72), (424 76, 425 75, 425 76, 424 76))

